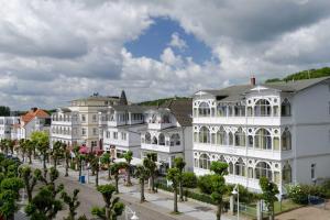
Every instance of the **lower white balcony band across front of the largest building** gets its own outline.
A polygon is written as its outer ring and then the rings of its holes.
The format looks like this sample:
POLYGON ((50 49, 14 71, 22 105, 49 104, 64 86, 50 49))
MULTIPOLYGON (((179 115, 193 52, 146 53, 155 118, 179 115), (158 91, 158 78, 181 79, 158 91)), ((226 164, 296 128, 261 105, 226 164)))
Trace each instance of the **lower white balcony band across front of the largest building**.
POLYGON ((215 152, 219 154, 232 154, 238 156, 258 157, 265 160, 287 160, 294 156, 293 151, 276 151, 276 150, 260 150, 245 146, 230 146, 230 145, 212 145, 204 143, 194 143, 193 150, 215 152))

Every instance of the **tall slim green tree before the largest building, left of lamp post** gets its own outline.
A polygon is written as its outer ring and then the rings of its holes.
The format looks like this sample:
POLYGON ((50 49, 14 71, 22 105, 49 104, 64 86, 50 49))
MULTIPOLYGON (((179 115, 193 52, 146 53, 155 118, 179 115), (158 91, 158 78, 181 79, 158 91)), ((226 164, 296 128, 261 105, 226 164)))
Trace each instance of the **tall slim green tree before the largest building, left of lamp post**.
POLYGON ((223 196, 228 193, 228 187, 223 177, 228 174, 228 164, 222 162, 212 162, 210 170, 213 172, 210 179, 212 190, 211 198, 217 204, 217 220, 220 220, 223 207, 223 196))

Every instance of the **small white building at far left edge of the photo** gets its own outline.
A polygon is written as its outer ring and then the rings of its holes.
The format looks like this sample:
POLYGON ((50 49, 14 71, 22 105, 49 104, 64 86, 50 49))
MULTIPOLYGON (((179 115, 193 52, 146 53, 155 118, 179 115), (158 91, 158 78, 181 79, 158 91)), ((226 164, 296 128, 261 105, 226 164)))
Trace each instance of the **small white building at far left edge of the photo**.
POLYGON ((0 117, 0 140, 15 140, 14 124, 20 123, 20 117, 0 117))

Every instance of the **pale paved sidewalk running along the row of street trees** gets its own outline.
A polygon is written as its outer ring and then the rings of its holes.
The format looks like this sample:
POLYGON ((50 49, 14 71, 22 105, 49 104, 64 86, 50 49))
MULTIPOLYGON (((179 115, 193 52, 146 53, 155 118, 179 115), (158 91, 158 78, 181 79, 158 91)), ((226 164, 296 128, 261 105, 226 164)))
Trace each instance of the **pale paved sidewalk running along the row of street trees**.
MULTIPOLYGON (((40 161, 34 160, 32 166, 42 168, 42 164, 40 161)), ((47 164, 47 167, 51 165, 47 164)), ((58 165, 57 169, 63 175, 65 173, 65 168, 63 165, 58 165)), ((73 169, 69 169, 69 177, 73 179, 77 179, 78 183, 78 172, 75 172, 73 169)), ((82 174, 82 175, 86 175, 82 174)), ((91 176, 89 174, 89 177, 86 179, 88 184, 86 186, 95 187, 95 176, 91 176)), ((134 200, 140 199, 140 185, 138 183, 138 179, 132 178, 133 186, 125 187, 123 186, 123 180, 120 180, 120 197, 125 197, 128 199, 134 198, 134 200)), ((100 172, 99 174, 99 184, 114 184, 113 180, 107 179, 107 172, 100 172)), ((162 193, 158 191, 157 194, 150 194, 147 190, 147 187, 145 187, 145 198, 147 202, 143 204, 146 205, 150 209, 153 209, 157 211, 158 209, 167 210, 169 213, 173 210, 173 196, 170 193, 162 193)), ((142 206, 142 205, 141 205, 142 206)), ((174 219, 199 219, 199 220, 216 220, 216 208, 211 205, 205 205, 202 202, 195 202, 195 201, 185 201, 185 202, 178 202, 178 210, 182 212, 182 215, 170 215, 174 219)), ((231 220, 237 219, 237 217, 229 216, 227 213, 222 215, 222 220, 231 220)))

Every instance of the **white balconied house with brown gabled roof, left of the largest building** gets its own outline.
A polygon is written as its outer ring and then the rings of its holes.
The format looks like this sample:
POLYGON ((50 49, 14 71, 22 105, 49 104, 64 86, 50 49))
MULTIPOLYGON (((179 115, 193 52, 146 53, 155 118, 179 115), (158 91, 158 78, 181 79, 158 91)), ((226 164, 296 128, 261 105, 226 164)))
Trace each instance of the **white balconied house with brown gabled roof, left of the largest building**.
POLYGON ((147 129, 141 135, 142 158, 150 152, 157 154, 165 173, 175 157, 184 157, 187 170, 193 170, 191 100, 172 100, 146 111, 147 129))

